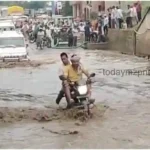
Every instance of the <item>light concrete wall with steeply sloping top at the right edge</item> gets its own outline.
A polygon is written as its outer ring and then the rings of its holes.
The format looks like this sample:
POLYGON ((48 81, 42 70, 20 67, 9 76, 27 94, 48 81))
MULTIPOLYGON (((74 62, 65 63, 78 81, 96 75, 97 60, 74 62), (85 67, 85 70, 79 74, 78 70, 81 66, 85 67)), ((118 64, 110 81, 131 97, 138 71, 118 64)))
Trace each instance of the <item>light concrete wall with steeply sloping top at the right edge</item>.
POLYGON ((136 34, 136 55, 150 55, 150 11, 136 34))

